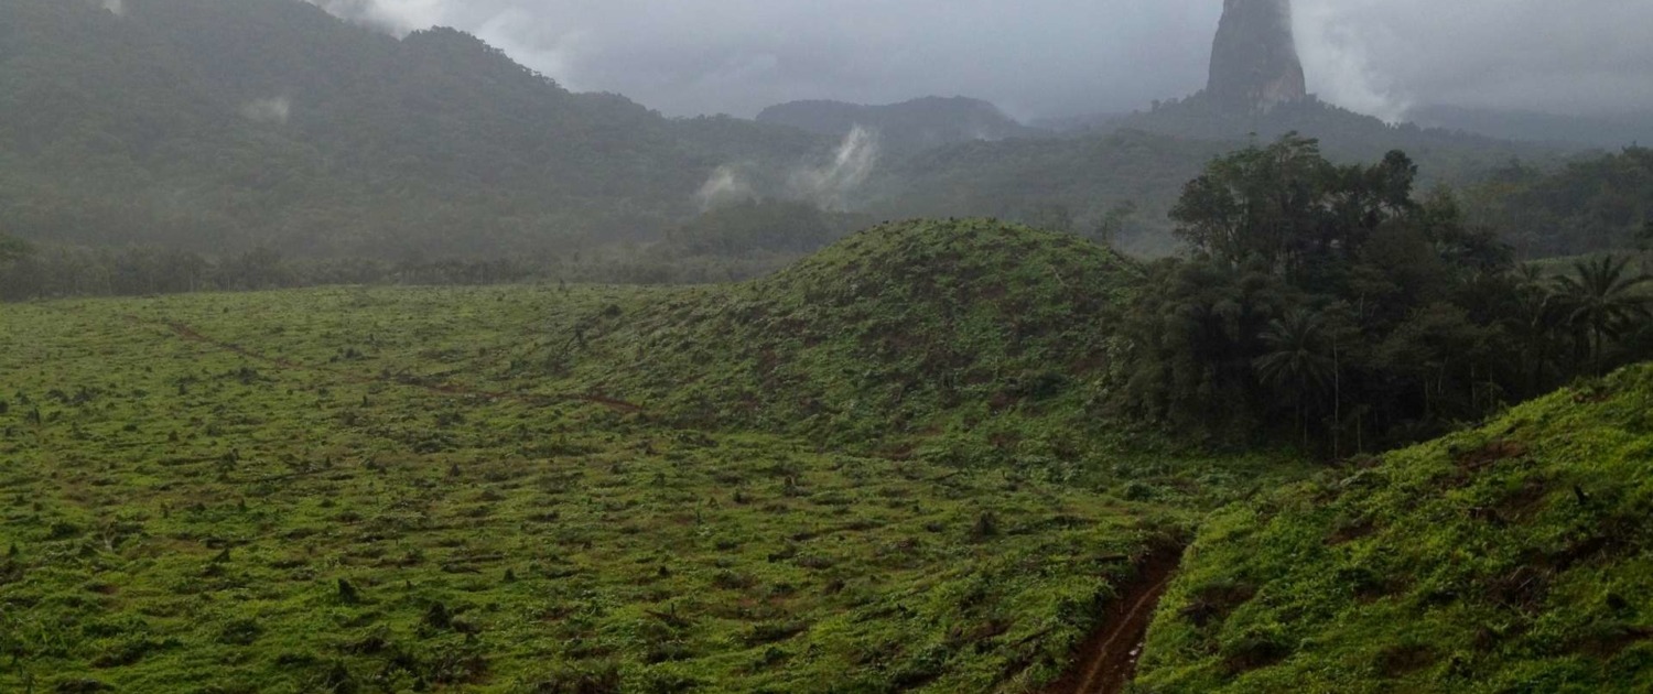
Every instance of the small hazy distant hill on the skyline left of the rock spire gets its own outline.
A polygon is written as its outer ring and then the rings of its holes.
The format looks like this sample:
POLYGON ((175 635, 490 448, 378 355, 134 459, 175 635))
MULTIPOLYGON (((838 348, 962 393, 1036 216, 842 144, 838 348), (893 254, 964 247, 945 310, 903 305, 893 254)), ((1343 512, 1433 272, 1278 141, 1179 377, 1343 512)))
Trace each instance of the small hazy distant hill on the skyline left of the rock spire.
POLYGON ((884 147, 898 154, 912 154, 955 142, 1045 134, 1005 116, 993 104, 962 96, 950 99, 931 96, 889 106, 793 101, 764 109, 757 114, 757 121, 833 137, 843 137, 860 126, 876 131, 884 147))

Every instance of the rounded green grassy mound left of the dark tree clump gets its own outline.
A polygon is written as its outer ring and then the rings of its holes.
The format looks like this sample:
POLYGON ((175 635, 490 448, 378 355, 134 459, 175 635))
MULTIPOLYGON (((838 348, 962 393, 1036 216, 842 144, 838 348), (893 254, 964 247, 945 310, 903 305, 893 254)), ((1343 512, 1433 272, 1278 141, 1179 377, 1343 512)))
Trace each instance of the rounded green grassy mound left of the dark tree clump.
POLYGON ((903 221, 765 279, 617 306, 532 360, 698 426, 846 443, 1018 415, 1071 425, 1137 278, 1066 235, 903 221))

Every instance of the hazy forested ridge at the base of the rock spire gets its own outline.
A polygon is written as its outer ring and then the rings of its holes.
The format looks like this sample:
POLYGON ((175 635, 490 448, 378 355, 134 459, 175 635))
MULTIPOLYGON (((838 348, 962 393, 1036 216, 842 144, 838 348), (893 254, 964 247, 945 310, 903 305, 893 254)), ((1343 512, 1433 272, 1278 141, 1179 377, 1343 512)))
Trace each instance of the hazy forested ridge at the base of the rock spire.
POLYGON ((1562 152, 1415 126, 1389 126, 1314 99, 1263 111, 1233 111, 1203 94, 1150 112, 1091 124, 1061 139, 960 142, 921 152, 883 170, 869 212, 879 216, 993 215, 1040 226, 1088 231, 1111 210, 1136 215, 1119 243, 1132 253, 1174 248, 1167 210, 1212 157, 1288 132, 1321 140, 1337 162, 1367 162, 1405 150, 1425 185, 1470 183, 1512 159, 1555 162, 1562 152))

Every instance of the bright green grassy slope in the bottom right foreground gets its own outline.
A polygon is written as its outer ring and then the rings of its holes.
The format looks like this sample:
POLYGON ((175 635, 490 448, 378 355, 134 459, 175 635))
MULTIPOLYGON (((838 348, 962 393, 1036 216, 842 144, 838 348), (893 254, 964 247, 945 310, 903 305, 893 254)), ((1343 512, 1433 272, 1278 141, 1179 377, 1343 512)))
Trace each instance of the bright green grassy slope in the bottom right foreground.
POLYGON ((1653 691, 1653 367, 1212 519, 1139 692, 1653 691))

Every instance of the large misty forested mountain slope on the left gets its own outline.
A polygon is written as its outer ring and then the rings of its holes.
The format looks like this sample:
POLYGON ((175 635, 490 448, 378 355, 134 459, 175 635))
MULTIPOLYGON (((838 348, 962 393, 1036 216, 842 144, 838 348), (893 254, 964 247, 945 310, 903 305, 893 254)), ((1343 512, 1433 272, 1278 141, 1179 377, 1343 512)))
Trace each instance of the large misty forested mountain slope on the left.
POLYGON ((0 5, 0 218, 31 238, 550 251, 674 225, 731 157, 815 147, 572 94, 474 36, 398 41, 298 0, 0 5))

